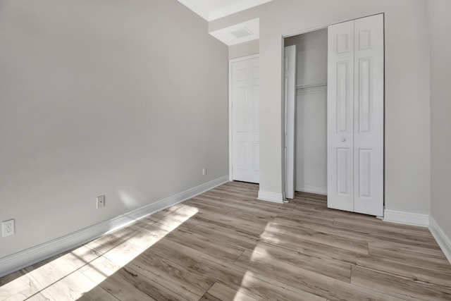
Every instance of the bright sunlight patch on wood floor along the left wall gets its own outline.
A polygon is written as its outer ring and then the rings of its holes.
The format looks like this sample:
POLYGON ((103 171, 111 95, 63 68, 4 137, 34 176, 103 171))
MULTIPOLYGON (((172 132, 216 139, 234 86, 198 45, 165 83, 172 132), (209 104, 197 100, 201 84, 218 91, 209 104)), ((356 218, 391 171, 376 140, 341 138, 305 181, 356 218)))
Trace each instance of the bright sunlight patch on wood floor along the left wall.
POLYGON ((168 209, 171 214, 156 221, 149 216, 42 265, 30 266, 26 274, 16 272, 23 275, 0 287, 0 300, 77 300, 87 292, 99 293, 104 300, 109 294, 97 285, 198 212, 195 207, 175 206, 174 211, 168 209))

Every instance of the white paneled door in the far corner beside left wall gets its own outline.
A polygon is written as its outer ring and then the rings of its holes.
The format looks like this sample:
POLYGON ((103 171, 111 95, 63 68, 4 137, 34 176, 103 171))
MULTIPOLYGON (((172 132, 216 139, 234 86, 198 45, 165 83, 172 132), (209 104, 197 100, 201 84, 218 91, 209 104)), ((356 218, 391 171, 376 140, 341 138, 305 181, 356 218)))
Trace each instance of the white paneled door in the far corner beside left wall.
POLYGON ((259 183, 259 58, 231 63, 232 179, 259 183))

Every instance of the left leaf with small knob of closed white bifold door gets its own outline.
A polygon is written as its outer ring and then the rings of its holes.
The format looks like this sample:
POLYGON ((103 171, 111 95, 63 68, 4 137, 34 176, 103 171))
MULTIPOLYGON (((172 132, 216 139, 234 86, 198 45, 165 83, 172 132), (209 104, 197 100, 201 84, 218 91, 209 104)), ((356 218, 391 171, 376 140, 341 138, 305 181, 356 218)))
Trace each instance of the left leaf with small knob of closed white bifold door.
POLYGON ((354 211, 354 21, 328 27, 328 207, 354 211))

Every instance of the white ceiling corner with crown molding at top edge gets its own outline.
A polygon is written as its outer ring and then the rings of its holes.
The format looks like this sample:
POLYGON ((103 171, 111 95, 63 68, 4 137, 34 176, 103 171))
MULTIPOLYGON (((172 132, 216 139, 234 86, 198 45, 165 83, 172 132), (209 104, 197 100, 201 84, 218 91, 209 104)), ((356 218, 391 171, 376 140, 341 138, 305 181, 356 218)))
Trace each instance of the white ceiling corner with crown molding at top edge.
POLYGON ((216 20, 273 0, 178 0, 207 21, 216 20))

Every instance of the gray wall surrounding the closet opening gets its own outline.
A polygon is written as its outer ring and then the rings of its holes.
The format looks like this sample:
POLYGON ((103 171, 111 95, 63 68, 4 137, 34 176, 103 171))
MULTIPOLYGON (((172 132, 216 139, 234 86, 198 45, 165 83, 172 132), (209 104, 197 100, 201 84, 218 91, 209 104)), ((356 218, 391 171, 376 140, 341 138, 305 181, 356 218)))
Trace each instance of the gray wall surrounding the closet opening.
POLYGON ((429 45, 424 0, 277 0, 211 21, 260 18, 260 190, 283 192, 283 36, 385 13, 385 207, 429 214, 429 45))

